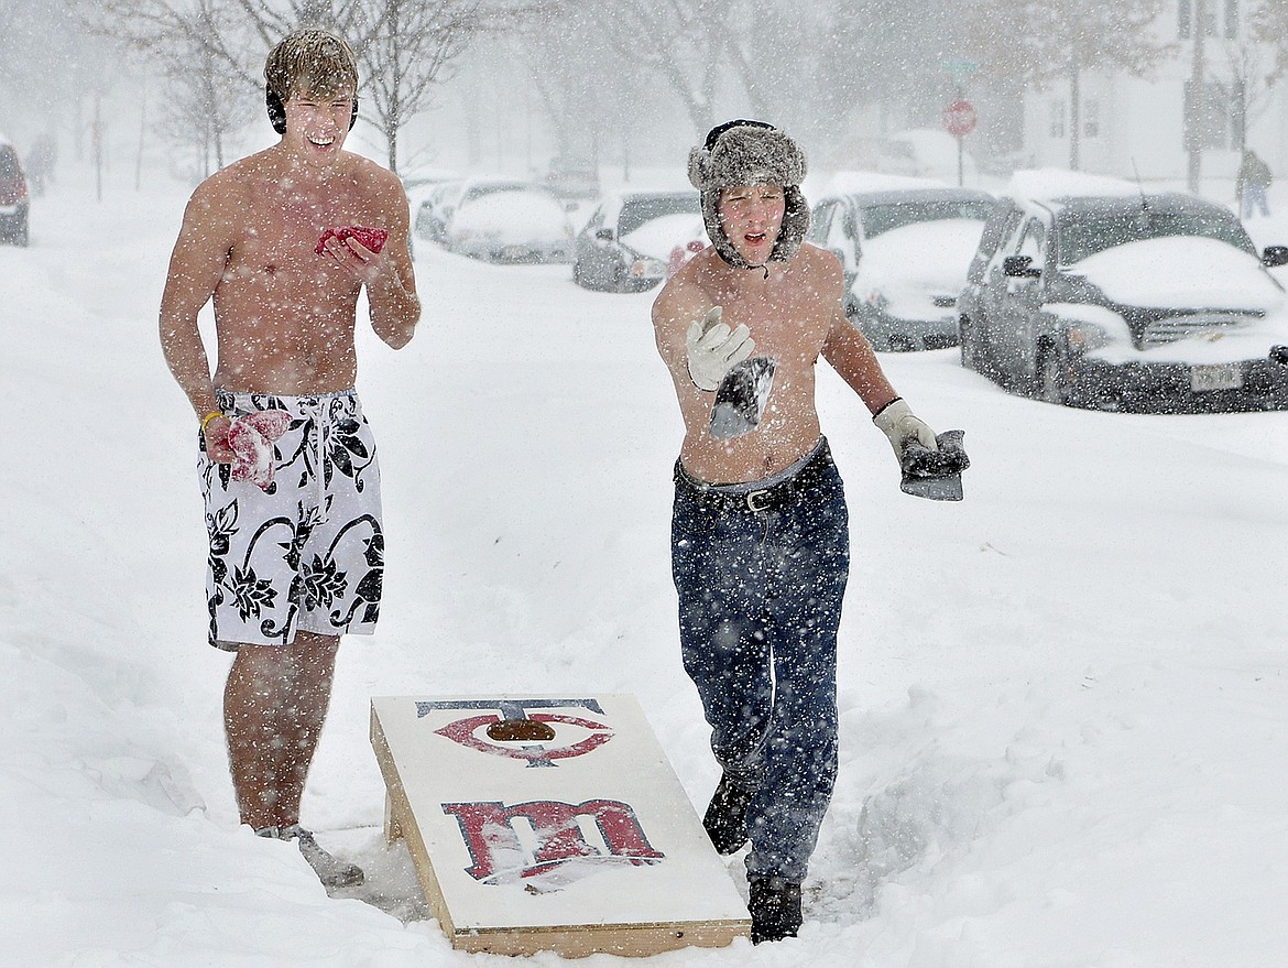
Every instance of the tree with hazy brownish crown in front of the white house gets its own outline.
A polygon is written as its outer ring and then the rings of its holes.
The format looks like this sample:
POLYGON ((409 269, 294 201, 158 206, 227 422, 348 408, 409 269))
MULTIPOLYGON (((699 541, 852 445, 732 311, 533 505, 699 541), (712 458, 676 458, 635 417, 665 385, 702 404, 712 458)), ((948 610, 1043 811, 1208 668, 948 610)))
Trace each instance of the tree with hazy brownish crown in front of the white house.
POLYGON ((1069 84, 1069 168, 1081 164, 1082 73, 1148 76, 1175 45, 1150 37, 1162 0, 979 0, 963 8, 966 52, 999 80, 1069 84))

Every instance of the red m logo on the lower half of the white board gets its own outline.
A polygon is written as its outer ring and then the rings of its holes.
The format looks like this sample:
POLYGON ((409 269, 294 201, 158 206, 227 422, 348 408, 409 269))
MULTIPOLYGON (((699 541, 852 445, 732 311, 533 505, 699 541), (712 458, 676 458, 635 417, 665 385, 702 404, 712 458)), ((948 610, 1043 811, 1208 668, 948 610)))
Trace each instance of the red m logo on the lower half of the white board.
MULTIPOLYGON (((635 811, 618 800, 556 803, 536 800, 506 807, 500 802, 444 803, 455 815, 474 864, 465 871, 475 880, 501 884, 537 879, 577 861, 589 864, 656 864, 654 851, 635 811), (585 825, 585 826, 583 826, 585 825), (601 847, 587 838, 587 828, 601 847), (520 835, 522 834, 524 835, 520 835), (524 844, 524 840, 528 840, 524 844)), ((573 880, 594 873, 569 871, 573 880)), ((544 878, 550 882, 553 879, 544 878)), ((555 879, 554 887, 559 887, 555 879)))

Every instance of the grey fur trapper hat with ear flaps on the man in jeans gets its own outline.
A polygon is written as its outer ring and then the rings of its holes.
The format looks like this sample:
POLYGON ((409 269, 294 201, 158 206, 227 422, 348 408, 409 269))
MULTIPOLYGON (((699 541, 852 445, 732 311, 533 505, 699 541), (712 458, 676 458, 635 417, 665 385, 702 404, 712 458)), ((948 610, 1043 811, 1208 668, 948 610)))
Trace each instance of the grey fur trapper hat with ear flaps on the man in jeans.
POLYGON ((720 192, 739 184, 781 184, 786 201, 783 227, 769 254, 770 262, 787 262, 801 247, 809 231, 809 205, 801 195, 805 152, 773 125, 764 121, 728 121, 711 129, 706 143, 689 152, 689 180, 702 198, 707 235, 726 263, 751 266, 733 247, 720 223, 720 192))

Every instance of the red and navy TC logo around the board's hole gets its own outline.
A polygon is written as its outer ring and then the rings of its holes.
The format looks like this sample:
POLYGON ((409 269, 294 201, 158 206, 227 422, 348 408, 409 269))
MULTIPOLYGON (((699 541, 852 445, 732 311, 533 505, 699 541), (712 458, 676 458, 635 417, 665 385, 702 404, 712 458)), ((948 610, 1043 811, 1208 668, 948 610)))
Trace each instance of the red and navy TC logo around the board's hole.
POLYGON ((529 767, 554 767, 555 760, 583 757, 603 746, 613 732, 604 723, 563 713, 532 713, 533 709, 583 708, 603 715, 592 699, 515 699, 417 702, 417 717, 435 709, 495 709, 492 713, 456 719, 434 732, 468 749, 495 757, 522 759, 529 767), (556 726, 564 728, 556 730, 556 726), (580 736, 580 739, 573 739, 580 736), (564 737, 563 745, 549 745, 564 737))

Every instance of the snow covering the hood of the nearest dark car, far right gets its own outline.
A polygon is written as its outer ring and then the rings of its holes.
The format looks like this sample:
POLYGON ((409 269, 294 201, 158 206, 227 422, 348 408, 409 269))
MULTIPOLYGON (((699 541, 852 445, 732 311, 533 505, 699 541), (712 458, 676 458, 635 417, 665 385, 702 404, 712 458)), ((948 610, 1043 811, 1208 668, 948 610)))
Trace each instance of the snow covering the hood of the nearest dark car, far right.
POLYGON ((1068 267, 1123 305, 1275 312, 1283 290, 1253 255, 1215 238, 1145 238, 1068 267))

